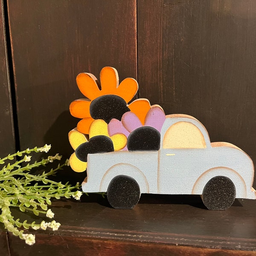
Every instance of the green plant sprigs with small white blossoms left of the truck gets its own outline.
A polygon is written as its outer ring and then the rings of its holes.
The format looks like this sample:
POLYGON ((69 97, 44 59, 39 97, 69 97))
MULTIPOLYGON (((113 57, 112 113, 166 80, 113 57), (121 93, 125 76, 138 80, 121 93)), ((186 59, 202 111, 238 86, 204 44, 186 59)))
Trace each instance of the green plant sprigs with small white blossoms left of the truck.
POLYGON ((12 208, 10 207, 18 207, 21 212, 33 212, 36 216, 43 214, 48 218, 53 218, 54 213, 51 209, 48 209, 48 205, 52 204, 52 198, 73 197, 79 200, 82 195, 82 192, 79 191, 79 183, 72 186, 69 183, 62 184, 61 182, 49 179, 49 176, 55 175, 62 167, 69 165, 68 160, 61 165, 58 164, 55 169, 51 169, 49 172, 44 171, 38 175, 29 173, 35 167, 46 166, 47 163, 61 160, 61 156, 58 154, 49 156, 39 162, 36 161, 32 164, 28 163, 26 166, 21 166, 23 162, 30 162, 31 156, 28 154, 31 152, 47 153, 49 149, 50 145, 44 145, 41 148, 27 148, 24 151, 18 151, 15 154, 9 154, 7 157, 0 159, 0 164, 3 165, 7 160, 10 161, 14 160, 15 157, 23 157, 23 159, 17 160, 15 163, 8 163, 0 170, 0 222, 4 224, 4 227, 9 232, 19 236, 20 239, 25 240, 26 244, 29 245, 35 243, 35 235, 24 234, 24 229, 32 228, 37 230, 41 228, 46 230, 47 228, 52 228, 52 230, 58 230, 60 223, 55 220, 48 223, 42 221, 40 224, 36 224, 35 221, 27 223, 27 220, 20 222, 20 219, 14 219, 11 211, 12 208))

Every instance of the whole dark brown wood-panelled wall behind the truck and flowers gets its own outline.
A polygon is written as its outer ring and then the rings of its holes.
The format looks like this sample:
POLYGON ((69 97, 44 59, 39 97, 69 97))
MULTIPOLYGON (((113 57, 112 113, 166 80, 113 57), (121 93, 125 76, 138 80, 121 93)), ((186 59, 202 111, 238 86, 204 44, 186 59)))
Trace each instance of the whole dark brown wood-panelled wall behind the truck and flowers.
MULTIPOLYGON (((138 97, 166 114, 195 116, 212 142, 233 143, 256 163, 255 0, 2 0, 1 7, 0 157, 45 143, 69 157, 67 134, 79 121, 69 105, 83 97, 76 76, 99 78, 112 66, 120 81, 138 80, 138 97)), ((223 218, 243 223, 231 215, 223 218)), ((256 250, 255 233, 243 232, 256 250)))

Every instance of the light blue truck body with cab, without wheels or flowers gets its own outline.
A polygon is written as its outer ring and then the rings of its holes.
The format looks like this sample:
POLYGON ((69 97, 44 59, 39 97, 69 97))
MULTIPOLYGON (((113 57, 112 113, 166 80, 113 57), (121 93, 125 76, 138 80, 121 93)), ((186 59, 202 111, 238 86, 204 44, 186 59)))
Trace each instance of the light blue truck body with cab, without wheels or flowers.
POLYGON ((106 192, 114 177, 128 175, 137 181, 141 193, 198 194, 204 197, 209 180, 224 176, 235 187, 235 192, 230 190, 234 198, 256 199, 256 192, 252 188, 254 169, 250 157, 229 144, 220 143, 219 147, 212 147, 204 126, 187 115, 173 115, 166 119, 159 151, 119 151, 90 154, 88 157, 87 178, 82 184, 84 192, 106 192), (180 137, 179 130, 175 129, 175 133, 171 134, 170 128, 180 122, 193 125, 191 133, 191 126, 184 126, 186 133, 192 136, 192 142, 181 140, 179 147, 176 143, 175 147, 172 144, 169 146, 168 136, 171 135, 173 140, 175 136, 180 137), (195 147, 198 144, 194 140, 194 127, 201 134, 200 140, 204 140, 198 148, 195 147))

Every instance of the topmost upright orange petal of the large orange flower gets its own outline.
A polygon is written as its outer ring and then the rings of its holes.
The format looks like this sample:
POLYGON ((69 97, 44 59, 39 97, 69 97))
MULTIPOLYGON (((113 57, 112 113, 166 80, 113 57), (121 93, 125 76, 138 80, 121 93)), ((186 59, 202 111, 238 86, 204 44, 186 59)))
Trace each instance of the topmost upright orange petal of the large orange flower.
POLYGON ((103 67, 100 72, 100 84, 102 87, 102 95, 116 95, 116 88, 119 84, 119 78, 116 69, 113 67, 103 67))

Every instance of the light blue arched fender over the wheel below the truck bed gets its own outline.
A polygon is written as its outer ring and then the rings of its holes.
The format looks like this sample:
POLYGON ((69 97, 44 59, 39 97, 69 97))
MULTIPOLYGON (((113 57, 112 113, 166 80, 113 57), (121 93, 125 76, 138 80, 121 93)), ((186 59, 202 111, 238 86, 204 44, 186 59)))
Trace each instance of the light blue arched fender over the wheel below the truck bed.
POLYGON ((108 169, 102 177, 99 191, 107 191, 108 185, 111 180, 118 175, 126 175, 134 178, 140 186, 140 193, 148 193, 149 186, 148 181, 137 167, 128 163, 118 163, 108 169))

